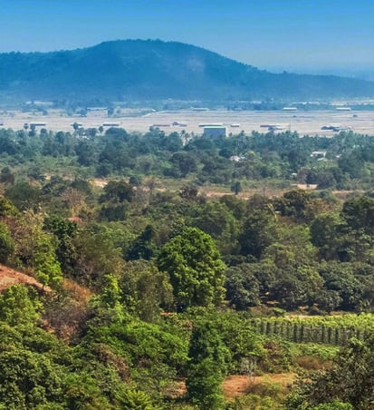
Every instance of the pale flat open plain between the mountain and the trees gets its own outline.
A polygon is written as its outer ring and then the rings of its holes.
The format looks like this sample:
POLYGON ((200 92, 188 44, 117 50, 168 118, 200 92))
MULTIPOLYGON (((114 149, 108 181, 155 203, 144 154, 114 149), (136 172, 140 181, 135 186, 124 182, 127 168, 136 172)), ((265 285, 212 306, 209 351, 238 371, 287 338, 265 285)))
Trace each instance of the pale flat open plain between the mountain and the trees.
MULTIPOLYGON (((110 124, 118 124, 129 132, 147 132, 151 125, 157 125, 165 132, 202 133, 200 124, 223 124, 227 133, 267 132, 264 125, 273 125, 275 132, 286 130, 299 132, 301 135, 334 135, 331 130, 321 127, 333 125, 353 132, 374 135, 374 112, 372 111, 312 111, 312 112, 254 112, 254 111, 163 111, 146 112, 137 110, 121 110, 115 117, 108 118, 106 111, 89 112, 86 117, 67 116, 62 110, 49 110, 47 115, 41 112, 3 112, 0 113, 2 127, 20 130, 24 123, 45 122, 45 128, 51 131, 72 131, 72 123, 82 123, 84 128, 104 128, 110 124), (173 125, 179 123, 183 125, 173 125), (263 125, 263 126, 262 126, 263 125)), ((41 128, 41 127, 39 127, 41 128)))

